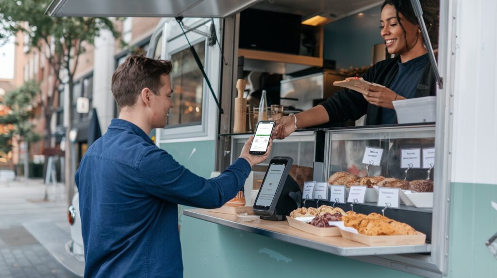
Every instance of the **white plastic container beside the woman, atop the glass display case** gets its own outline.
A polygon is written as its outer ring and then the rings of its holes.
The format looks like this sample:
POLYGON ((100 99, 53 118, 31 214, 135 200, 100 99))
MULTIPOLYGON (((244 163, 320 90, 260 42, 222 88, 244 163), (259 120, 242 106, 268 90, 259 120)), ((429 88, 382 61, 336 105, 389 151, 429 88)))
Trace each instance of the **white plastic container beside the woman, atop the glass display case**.
POLYGON ((436 120, 436 97, 393 101, 399 123, 434 122, 436 120))

